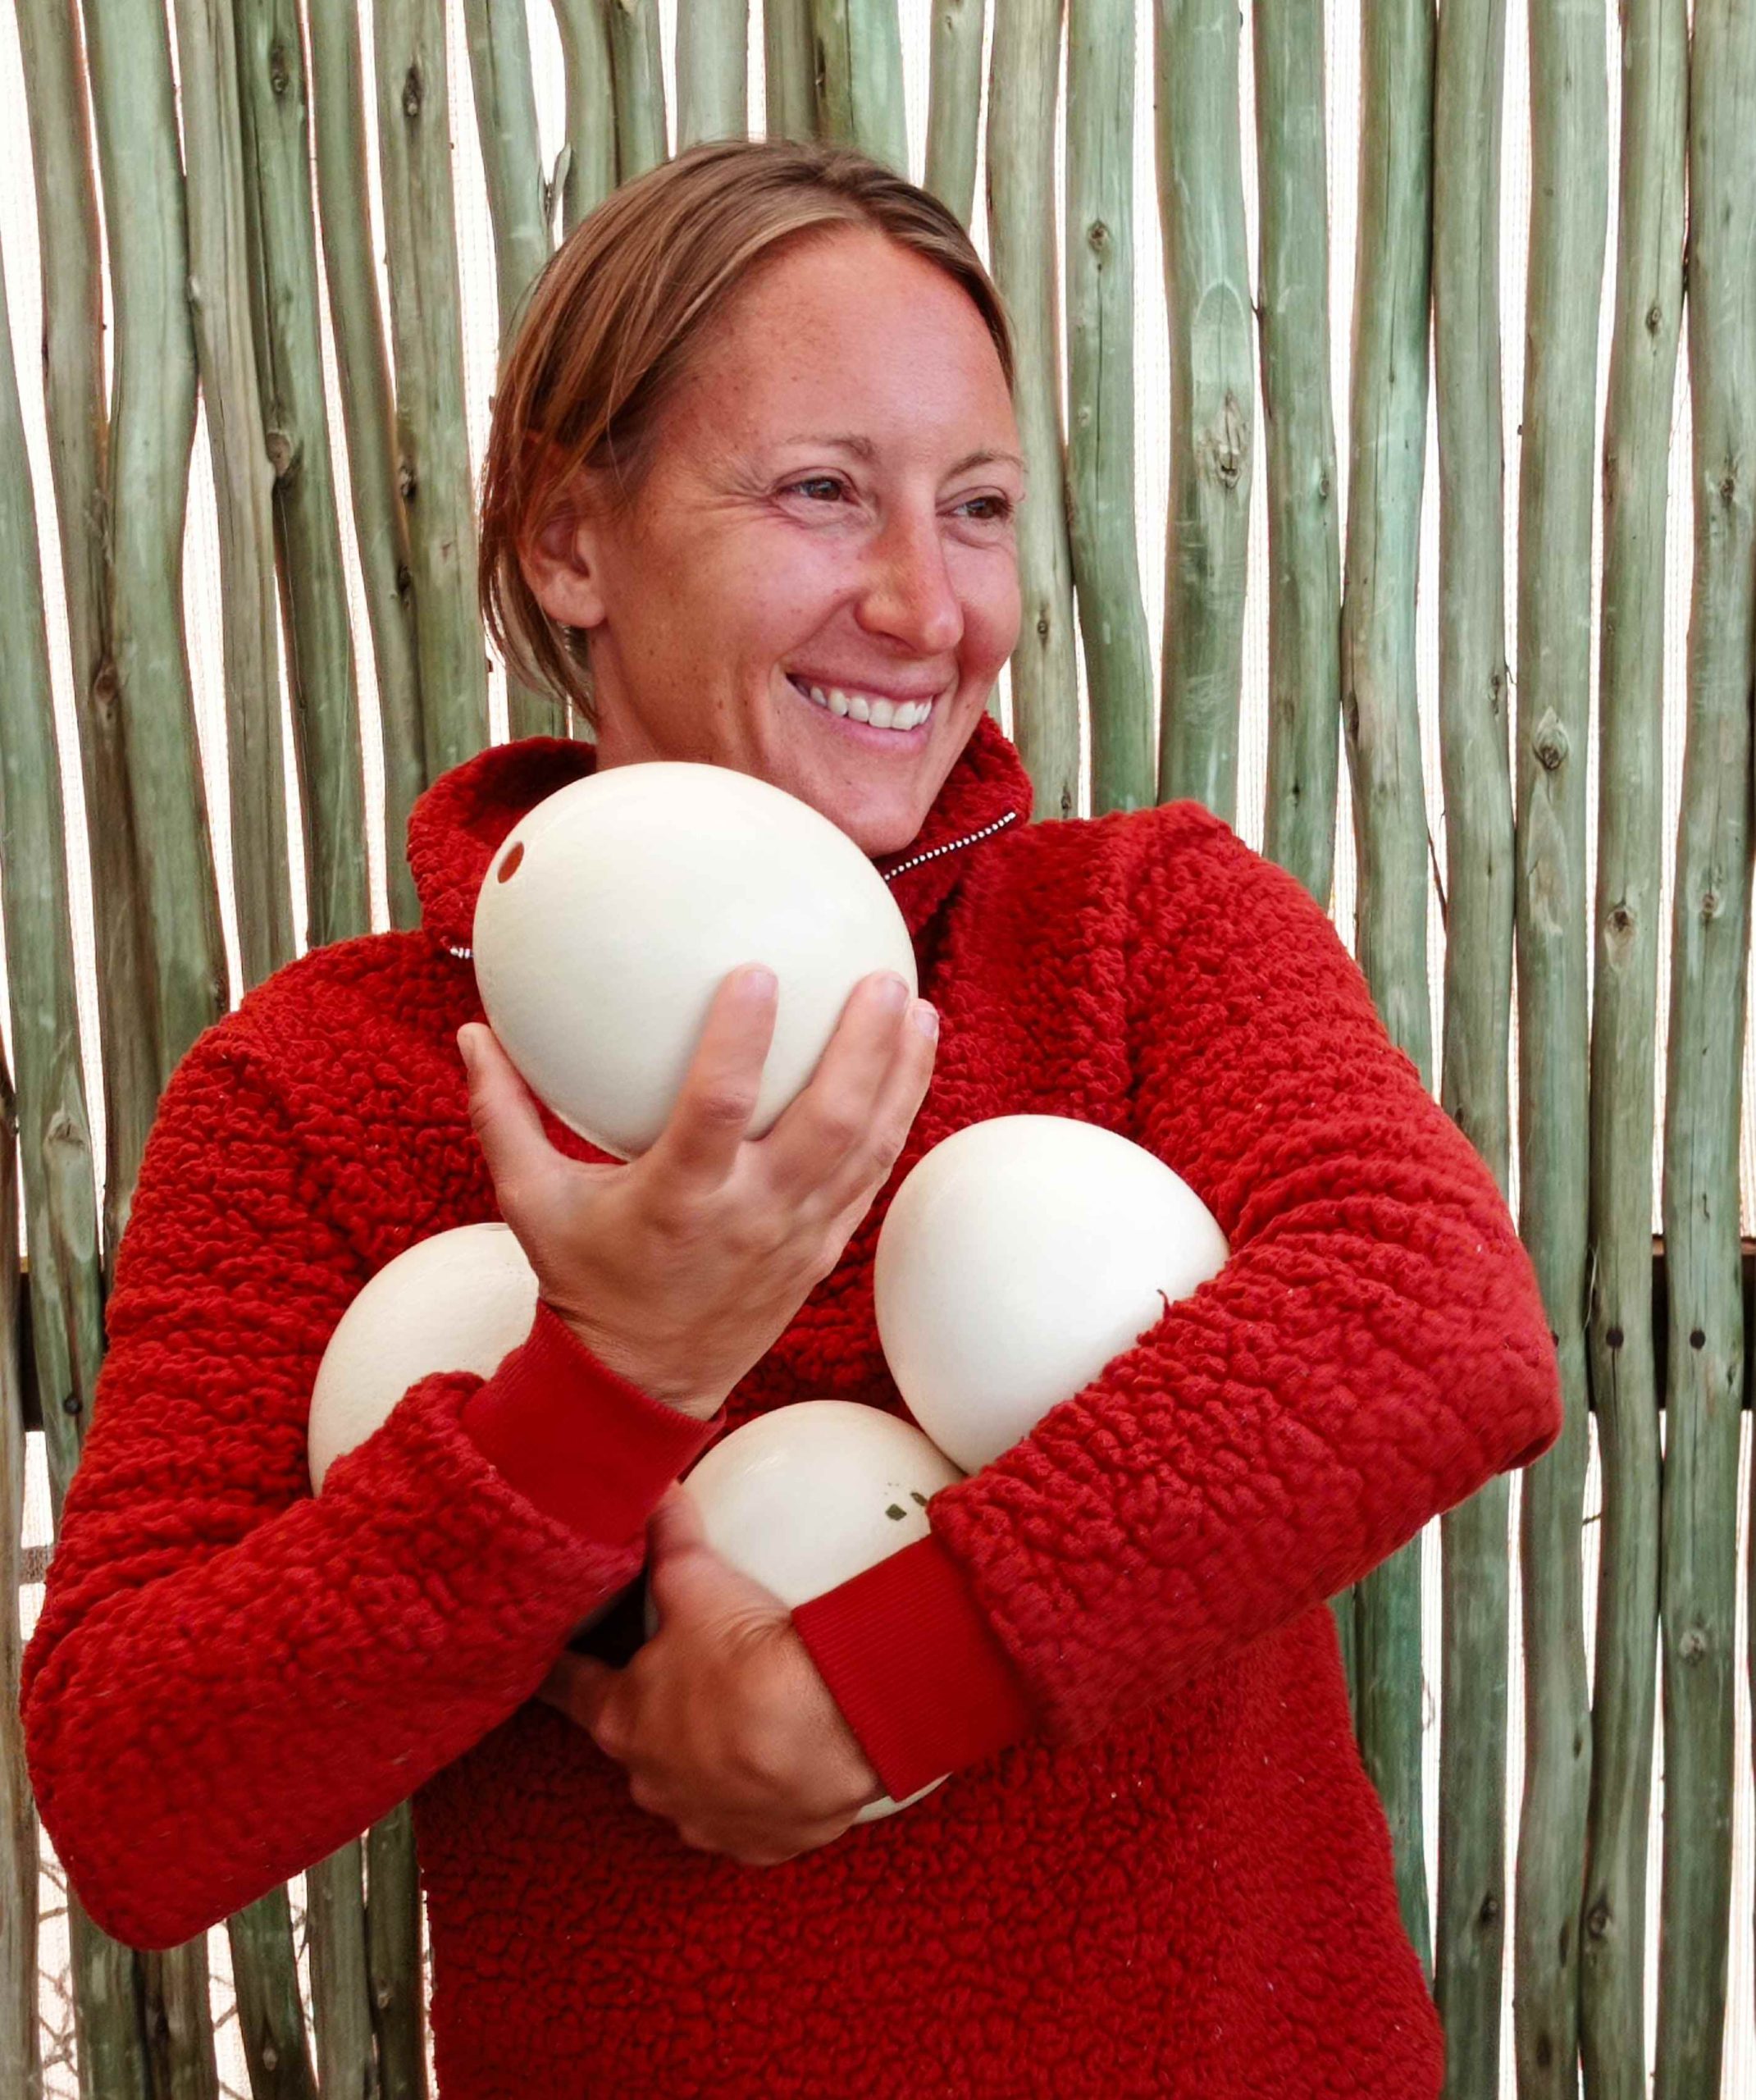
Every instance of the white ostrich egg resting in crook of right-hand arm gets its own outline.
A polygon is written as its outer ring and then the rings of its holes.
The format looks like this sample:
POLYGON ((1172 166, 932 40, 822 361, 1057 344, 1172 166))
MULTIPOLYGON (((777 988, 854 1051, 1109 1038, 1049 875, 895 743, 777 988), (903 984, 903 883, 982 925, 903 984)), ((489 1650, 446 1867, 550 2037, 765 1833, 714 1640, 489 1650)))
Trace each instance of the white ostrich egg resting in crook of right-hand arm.
POLYGON ((878 1340, 914 1420, 987 1466, 1225 1266, 1208 1205, 1149 1151, 1061 1115, 935 1144, 878 1233, 878 1340))

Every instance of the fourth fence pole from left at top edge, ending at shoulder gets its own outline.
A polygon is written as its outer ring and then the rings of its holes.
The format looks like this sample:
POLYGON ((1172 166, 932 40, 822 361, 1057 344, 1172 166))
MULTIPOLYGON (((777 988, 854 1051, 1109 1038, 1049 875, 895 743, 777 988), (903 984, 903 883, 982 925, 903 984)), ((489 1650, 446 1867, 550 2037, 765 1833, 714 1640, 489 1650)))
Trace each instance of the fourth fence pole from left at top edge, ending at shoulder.
POLYGON ((233 0, 256 365, 273 468, 292 748, 313 947, 370 926, 359 693, 317 302, 305 46, 296 0, 233 0))

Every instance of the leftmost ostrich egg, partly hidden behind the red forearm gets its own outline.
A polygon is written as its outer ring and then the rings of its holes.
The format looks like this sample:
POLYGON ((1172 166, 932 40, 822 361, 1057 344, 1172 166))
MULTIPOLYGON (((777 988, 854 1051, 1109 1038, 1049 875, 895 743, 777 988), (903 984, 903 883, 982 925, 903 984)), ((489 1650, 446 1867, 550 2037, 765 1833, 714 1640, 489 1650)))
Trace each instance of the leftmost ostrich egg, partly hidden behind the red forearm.
POLYGON ((433 1371, 489 1378, 536 1319, 536 1275, 504 1224, 462 1224, 386 1262, 330 1336, 311 1390, 311 1487, 433 1371))

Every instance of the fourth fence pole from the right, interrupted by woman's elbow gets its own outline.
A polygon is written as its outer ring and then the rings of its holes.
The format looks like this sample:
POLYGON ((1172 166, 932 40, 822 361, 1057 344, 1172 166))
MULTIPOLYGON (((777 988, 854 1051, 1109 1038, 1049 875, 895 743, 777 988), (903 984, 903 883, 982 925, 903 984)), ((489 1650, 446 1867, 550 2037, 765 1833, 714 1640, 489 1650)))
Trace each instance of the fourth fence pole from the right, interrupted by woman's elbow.
MULTIPOLYGON (((1439 754, 1445 1042, 1439 1098, 1510 1184, 1512 777, 1500 412, 1504 0, 1439 10, 1433 88, 1433 378, 1439 412, 1439 754)), ((1651 1258, 1649 1258, 1651 1268, 1651 1258)), ((1651 1289, 1651 1275, 1647 1279, 1651 1289)), ((1435 2001, 1445 2100, 1500 2094, 1506 1964, 1510 1480, 1441 1520, 1443 1646, 1435 2001)))

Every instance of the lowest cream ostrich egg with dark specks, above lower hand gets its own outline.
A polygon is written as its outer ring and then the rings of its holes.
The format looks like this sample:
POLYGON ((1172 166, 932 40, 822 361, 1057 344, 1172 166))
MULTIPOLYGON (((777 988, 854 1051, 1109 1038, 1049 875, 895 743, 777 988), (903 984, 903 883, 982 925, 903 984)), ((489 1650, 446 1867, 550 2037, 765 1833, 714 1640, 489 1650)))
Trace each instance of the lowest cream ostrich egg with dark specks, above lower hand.
MULTIPOLYGON (((855 1401, 796 1401, 720 1438, 683 1487, 712 1550, 792 1606, 924 1539, 928 1497, 960 1478, 897 1415, 855 1401)), ((884 1796, 855 1821, 891 1816, 937 1785, 931 1779, 903 1802, 884 1796)))

